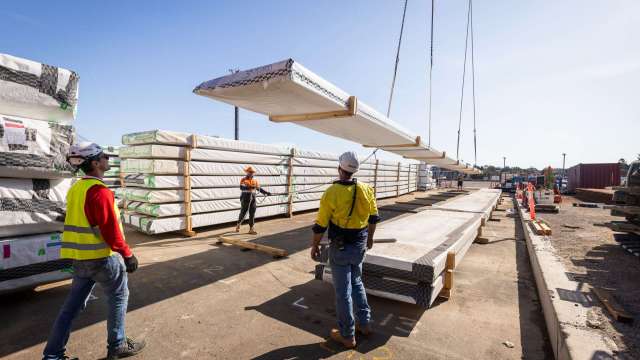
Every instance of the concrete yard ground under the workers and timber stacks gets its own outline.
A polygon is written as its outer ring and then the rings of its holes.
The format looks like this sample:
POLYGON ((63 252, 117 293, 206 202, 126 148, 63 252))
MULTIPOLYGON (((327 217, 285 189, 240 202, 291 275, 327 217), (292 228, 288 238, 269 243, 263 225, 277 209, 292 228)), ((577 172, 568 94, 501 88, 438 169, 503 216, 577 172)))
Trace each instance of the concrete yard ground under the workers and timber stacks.
MULTIPOLYGON (((466 184, 465 184, 466 185, 466 184)), ((396 200, 383 218, 402 216, 396 200)), ((423 205, 424 201, 419 201, 423 205)), ((511 207, 506 199, 500 209, 511 207)), ((429 310, 370 297, 376 333, 356 350, 327 341, 335 326, 333 289, 314 280, 309 258, 315 214, 260 221, 259 243, 285 248, 273 259, 207 238, 128 232, 140 259, 129 277, 128 335, 147 349, 136 359, 545 359, 551 358, 522 229, 504 211, 487 222, 486 245, 458 265, 454 294, 429 310)), ((0 358, 36 359, 69 291, 69 281, 0 298, 0 358), (8 326, 6 324, 9 324, 8 326)), ((101 290, 74 323, 68 352, 104 357, 106 303, 101 290)))

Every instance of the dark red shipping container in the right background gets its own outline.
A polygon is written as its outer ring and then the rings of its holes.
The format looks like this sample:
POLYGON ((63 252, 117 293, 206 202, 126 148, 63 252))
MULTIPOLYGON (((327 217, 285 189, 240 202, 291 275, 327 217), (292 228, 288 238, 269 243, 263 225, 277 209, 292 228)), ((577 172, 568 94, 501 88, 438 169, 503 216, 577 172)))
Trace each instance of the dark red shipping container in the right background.
POLYGON ((576 189, 604 189, 620 185, 620 165, 578 164, 567 169, 568 191, 576 189))

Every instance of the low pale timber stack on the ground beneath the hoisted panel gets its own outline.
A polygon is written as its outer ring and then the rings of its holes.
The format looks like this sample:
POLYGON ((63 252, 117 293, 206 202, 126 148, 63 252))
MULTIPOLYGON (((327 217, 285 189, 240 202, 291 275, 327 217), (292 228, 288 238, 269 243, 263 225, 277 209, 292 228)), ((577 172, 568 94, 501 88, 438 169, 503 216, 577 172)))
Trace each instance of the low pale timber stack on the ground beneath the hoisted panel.
MULTIPOLYGON (((500 197, 482 189, 436 208, 383 221, 367 251, 363 282, 367 293, 428 308, 449 296, 453 269, 479 234, 500 197)), ((328 246, 322 247, 316 279, 332 281, 328 246)))

